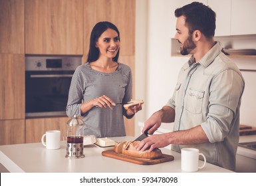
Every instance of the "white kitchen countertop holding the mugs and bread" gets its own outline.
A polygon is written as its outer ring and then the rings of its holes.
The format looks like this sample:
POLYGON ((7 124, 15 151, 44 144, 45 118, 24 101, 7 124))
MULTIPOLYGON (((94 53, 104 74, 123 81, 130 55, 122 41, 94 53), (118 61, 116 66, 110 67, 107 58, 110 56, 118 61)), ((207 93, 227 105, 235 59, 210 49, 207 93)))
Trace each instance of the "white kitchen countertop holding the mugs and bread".
MULTIPOLYGON (((134 137, 125 136, 111 138, 115 141, 132 141, 134 137)), ((168 173, 182 172, 180 169, 180 153, 169 149, 162 149, 163 153, 174 156, 174 161, 160 163, 156 165, 138 165, 110 157, 102 156, 104 149, 95 145, 86 145, 84 147, 84 158, 68 159, 66 155, 66 146, 62 141, 61 149, 49 150, 41 143, 24 143, 16 145, 0 146, 0 163, 10 172, 76 172, 76 173, 168 173)), ((203 163, 203 162, 199 162, 203 163)), ((206 163, 203 169, 198 172, 223 173, 231 172, 227 169, 206 163)))

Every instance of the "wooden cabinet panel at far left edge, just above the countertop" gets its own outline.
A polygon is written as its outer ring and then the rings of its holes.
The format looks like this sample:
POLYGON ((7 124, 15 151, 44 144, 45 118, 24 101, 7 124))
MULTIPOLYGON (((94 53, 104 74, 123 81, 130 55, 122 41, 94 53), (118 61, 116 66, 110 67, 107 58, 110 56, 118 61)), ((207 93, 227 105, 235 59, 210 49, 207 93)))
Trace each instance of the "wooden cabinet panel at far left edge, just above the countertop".
POLYGON ((25 120, 0 120, 0 145, 25 143, 25 120))

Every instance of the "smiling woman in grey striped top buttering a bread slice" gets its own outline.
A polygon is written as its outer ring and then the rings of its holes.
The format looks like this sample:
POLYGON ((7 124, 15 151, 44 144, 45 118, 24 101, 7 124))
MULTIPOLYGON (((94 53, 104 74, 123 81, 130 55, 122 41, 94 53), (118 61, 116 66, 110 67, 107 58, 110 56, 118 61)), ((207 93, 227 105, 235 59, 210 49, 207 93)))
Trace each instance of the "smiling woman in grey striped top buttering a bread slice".
POLYGON ((118 62, 119 47, 116 26, 107 21, 97 23, 90 35, 87 62, 72 76, 66 114, 83 117, 84 136, 125 136, 123 116, 132 118, 142 110, 140 104, 128 110, 122 107, 132 98, 132 72, 118 62))

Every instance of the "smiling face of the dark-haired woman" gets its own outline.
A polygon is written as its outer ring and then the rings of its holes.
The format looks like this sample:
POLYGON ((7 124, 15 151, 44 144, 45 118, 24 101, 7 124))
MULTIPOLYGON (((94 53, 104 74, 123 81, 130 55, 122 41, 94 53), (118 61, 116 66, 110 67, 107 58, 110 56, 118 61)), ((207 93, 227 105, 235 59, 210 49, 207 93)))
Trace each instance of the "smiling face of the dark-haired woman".
POLYGON ((114 58, 120 47, 118 33, 112 29, 106 29, 98 38, 96 47, 100 51, 100 57, 114 58))

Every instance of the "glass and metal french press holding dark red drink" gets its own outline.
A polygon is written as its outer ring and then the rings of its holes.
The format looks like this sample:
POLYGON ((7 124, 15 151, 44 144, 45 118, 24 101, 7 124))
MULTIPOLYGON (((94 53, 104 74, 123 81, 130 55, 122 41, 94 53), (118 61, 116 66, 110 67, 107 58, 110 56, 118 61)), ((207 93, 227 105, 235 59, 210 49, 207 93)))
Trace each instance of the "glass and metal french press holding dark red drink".
POLYGON ((84 122, 74 115, 66 124, 66 156, 67 158, 84 157, 84 122))

